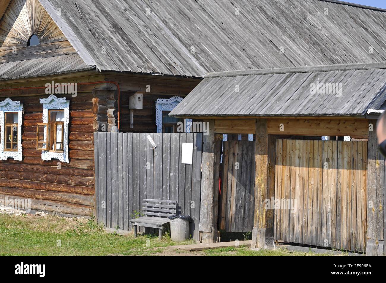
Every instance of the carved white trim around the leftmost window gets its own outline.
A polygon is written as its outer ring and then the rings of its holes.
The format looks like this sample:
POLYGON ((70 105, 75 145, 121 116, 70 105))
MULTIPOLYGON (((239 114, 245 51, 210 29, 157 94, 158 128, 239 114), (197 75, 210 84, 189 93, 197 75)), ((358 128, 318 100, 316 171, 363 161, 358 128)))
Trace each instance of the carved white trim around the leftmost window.
POLYGON ((13 158, 14 160, 18 160, 18 161, 22 161, 23 160, 23 152, 22 152, 22 115, 23 115, 23 104, 20 104, 20 101, 12 101, 8 97, 6 100, 0 102, 0 130, 1 130, 0 160, 7 160, 8 158, 13 158), (5 141, 4 141, 5 120, 4 120, 4 114, 6 112, 17 112, 19 114, 18 128, 17 128, 17 151, 5 151, 5 141))

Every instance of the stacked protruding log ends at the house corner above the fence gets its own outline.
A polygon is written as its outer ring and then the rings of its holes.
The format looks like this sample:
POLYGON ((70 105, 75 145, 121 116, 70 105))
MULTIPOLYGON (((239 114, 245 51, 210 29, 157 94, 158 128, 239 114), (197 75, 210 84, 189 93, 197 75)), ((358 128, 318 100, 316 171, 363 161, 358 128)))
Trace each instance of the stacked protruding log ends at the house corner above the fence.
POLYGON ((118 132, 118 88, 100 83, 93 93, 94 132, 118 132))

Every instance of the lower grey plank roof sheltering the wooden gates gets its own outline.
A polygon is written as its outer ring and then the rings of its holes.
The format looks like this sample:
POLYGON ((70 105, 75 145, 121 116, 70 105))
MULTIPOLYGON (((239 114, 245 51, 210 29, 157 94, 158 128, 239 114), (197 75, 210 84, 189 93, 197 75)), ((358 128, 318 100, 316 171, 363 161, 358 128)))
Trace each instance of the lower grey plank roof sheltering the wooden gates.
POLYGON ((385 84, 386 62, 209 73, 169 115, 364 116, 385 102, 385 84))

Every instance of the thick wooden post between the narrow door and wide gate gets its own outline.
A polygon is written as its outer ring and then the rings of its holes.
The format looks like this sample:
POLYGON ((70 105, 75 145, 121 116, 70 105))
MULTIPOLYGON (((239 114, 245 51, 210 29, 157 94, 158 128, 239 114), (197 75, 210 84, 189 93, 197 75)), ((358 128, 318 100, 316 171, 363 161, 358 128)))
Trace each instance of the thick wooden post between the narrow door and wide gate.
POLYGON ((275 191, 275 142, 276 137, 267 134, 267 120, 256 120, 256 177, 255 216, 252 230, 252 248, 273 247, 274 210, 266 209, 266 199, 271 200, 275 191))

